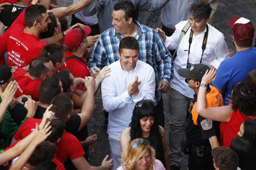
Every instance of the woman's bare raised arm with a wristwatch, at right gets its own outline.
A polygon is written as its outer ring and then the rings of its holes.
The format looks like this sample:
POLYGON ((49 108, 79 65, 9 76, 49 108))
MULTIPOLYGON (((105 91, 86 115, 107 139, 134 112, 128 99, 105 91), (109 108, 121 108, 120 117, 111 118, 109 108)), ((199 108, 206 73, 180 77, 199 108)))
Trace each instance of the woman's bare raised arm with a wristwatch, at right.
MULTIPOLYGON (((215 69, 209 70, 209 73, 207 70, 202 78, 201 84, 205 83, 208 86, 212 81, 216 79, 215 74, 215 69)), ((197 113, 202 117, 205 117, 206 119, 211 119, 220 122, 228 122, 233 112, 231 106, 207 107, 206 90, 207 88, 205 87, 199 88, 196 103, 197 113)))

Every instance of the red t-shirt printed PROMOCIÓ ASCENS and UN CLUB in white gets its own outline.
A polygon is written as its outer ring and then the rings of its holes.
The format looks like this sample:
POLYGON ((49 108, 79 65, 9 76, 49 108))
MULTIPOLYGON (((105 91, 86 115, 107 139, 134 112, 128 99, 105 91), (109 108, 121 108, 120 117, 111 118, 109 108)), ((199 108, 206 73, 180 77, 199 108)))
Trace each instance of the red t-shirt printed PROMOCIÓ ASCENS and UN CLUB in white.
POLYGON ((7 40, 7 65, 25 67, 31 60, 40 57, 41 49, 47 45, 32 34, 26 34, 23 24, 16 24, 7 40))

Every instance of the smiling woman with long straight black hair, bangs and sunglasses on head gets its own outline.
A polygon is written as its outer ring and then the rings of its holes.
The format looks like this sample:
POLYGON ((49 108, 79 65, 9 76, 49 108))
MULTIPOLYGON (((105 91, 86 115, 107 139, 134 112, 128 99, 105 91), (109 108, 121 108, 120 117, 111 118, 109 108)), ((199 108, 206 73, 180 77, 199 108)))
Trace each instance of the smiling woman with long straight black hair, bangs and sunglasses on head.
POLYGON ((134 107, 132 121, 120 135, 121 152, 124 153, 129 143, 136 138, 147 139, 156 151, 156 159, 160 160, 167 170, 170 169, 169 155, 165 143, 164 128, 155 123, 156 113, 152 100, 141 100, 134 107))

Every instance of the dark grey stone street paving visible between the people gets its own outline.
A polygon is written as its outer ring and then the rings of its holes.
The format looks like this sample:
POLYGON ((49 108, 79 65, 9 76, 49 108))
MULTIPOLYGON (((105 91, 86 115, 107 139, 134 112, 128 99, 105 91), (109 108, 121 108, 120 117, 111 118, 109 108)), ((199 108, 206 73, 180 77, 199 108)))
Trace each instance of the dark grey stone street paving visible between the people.
MULTIPOLYGON (((181 1, 182 2, 182 1, 181 1)), ((59 7, 69 6, 72 3, 70 0, 63 0, 59 2, 59 7)), ((232 32, 229 27, 229 20, 233 17, 245 17, 252 21, 252 24, 256 26, 256 6, 253 0, 219 0, 218 9, 215 18, 215 28, 222 32, 225 36, 228 49, 232 48, 235 51, 232 43, 232 32)), ((155 12, 147 12, 140 10, 138 16, 138 22, 147 25, 151 28, 162 28, 162 22, 160 19, 161 10, 155 12)), ((68 17, 71 20, 71 17, 68 17)), ((255 27, 256 28, 256 27, 255 27)), ((254 40, 255 41, 255 40, 254 40)), ((254 42, 253 41, 253 42, 254 42)), ((253 43, 254 46, 254 43, 253 43)), ((242 66, 241 66, 242 67, 242 66)), ((166 144, 169 145, 168 141, 168 129, 169 129, 169 110, 168 110, 168 94, 163 94, 164 100, 164 114, 165 114, 165 135, 166 144)), ((98 92, 95 96, 95 104, 97 108, 93 114, 93 117, 88 124, 90 135, 97 134, 97 141, 90 146, 89 152, 89 164, 93 166, 101 165, 105 155, 110 155, 110 148, 108 142, 108 134, 104 132, 104 111, 102 107, 101 95, 98 92)), ((182 160, 182 170, 186 169, 188 156, 184 155, 182 160)))

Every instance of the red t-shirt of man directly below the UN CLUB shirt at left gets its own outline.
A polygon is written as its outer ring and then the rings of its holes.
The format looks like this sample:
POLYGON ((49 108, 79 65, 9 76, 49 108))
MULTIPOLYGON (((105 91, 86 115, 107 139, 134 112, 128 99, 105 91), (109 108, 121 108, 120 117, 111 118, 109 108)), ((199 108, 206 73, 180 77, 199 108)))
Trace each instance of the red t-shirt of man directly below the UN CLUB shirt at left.
POLYGON ((30 77, 25 76, 27 73, 22 68, 18 68, 14 73, 14 79, 17 81, 18 89, 14 98, 18 98, 21 95, 30 95, 33 100, 39 101, 39 86, 42 80, 32 80, 30 77))

